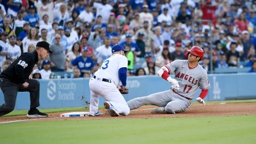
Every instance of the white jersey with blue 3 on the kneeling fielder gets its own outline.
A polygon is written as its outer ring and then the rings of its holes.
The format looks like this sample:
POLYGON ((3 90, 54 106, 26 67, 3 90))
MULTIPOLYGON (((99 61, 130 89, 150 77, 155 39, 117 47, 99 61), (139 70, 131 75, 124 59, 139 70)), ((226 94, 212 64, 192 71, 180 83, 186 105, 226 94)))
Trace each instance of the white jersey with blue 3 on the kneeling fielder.
POLYGON ((127 68, 128 60, 124 55, 113 54, 106 59, 101 67, 95 72, 96 77, 110 79, 111 82, 117 86, 119 85, 118 70, 120 68, 127 68))

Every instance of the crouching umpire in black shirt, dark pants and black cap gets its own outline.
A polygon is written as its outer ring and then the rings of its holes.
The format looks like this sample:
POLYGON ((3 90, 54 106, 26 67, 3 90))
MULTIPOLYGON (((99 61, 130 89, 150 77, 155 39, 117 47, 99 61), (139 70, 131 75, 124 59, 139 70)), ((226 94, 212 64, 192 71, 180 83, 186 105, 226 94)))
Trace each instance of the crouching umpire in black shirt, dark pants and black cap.
POLYGON ((13 111, 19 92, 30 93, 30 110, 27 117, 47 117, 47 114, 41 113, 36 107, 39 106, 39 82, 31 79, 30 74, 33 71, 38 59, 49 57, 50 45, 47 42, 38 42, 34 52, 25 52, 19 59, 6 68, 0 75, 0 87, 4 93, 5 103, 0 106, 0 116, 13 111))

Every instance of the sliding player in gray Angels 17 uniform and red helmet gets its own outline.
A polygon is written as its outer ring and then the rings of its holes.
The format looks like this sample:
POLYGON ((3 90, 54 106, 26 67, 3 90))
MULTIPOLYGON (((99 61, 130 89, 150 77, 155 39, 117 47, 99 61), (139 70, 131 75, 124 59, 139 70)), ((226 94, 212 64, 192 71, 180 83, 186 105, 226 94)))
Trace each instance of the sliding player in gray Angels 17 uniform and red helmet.
POLYGON ((188 60, 175 60, 162 67, 158 70, 158 76, 172 84, 171 90, 132 99, 127 102, 130 109, 152 104, 161 107, 153 109, 153 114, 180 113, 189 108, 198 87, 202 92, 196 100, 205 105, 203 98, 207 95, 210 83, 206 71, 198 65, 203 57, 204 51, 201 47, 193 46, 189 50, 188 60), (174 78, 169 74, 173 74, 174 78))

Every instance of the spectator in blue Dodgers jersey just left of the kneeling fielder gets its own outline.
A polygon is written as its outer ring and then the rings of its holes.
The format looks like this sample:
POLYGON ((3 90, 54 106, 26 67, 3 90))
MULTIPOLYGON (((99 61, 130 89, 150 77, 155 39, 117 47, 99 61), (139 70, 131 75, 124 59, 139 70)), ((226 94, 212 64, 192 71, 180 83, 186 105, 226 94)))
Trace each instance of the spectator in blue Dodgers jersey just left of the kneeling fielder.
POLYGON ((71 62, 71 64, 74 67, 77 67, 81 71, 80 77, 83 77, 84 73, 86 72, 91 74, 94 68, 94 62, 90 57, 88 57, 87 52, 88 52, 87 47, 83 47, 81 52, 82 55, 80 57, 77 57, 71 62))

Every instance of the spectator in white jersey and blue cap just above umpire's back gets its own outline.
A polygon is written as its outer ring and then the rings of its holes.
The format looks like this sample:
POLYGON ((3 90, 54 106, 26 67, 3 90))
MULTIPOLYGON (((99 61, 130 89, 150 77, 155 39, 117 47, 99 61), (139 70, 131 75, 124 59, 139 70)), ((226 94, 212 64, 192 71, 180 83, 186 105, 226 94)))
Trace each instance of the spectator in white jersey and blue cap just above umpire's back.
POLYGON ((16 43, 16 36, 11 35, 9 38, 9 47, 7 50, 7 53, 9 53, 9 56, 7 57, 8 59, 11 60, 11 62, 13 62, 14 60, 18 59, 21 55, 21 50, 20 47, 18 45, 15 45, 16 43))

